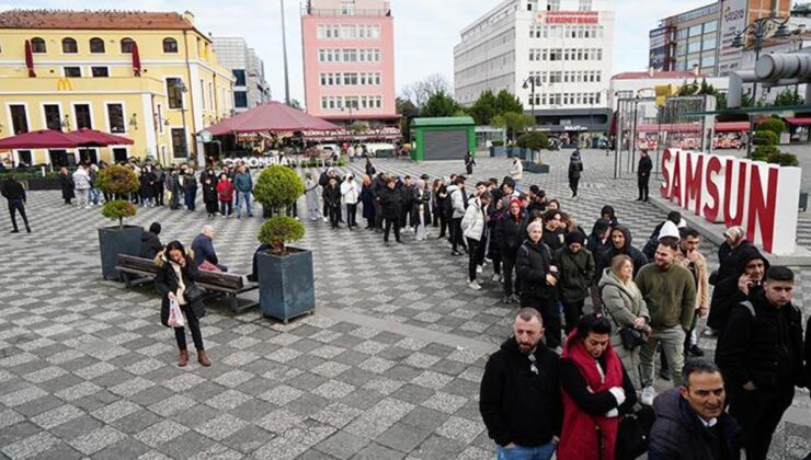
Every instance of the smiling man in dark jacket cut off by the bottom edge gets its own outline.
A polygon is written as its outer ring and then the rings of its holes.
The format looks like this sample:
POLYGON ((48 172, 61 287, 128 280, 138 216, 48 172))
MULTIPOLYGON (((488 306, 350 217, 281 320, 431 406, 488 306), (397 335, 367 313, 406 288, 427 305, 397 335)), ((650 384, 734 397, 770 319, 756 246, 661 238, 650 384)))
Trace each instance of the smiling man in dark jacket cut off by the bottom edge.
POLYGON ((713 363, 690 359, 682 386, 656 396, 656 421, 650 434, 648 459, 738 460, 740 427, 723 412, 723 377, 713 363))

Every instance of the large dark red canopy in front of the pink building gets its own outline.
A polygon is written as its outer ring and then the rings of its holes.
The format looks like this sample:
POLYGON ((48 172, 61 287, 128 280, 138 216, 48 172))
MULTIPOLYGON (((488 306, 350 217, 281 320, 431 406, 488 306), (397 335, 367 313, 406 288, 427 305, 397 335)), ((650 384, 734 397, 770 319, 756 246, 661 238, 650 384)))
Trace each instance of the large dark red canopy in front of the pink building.
POLYGON ((340 127, 330 122, 308 115, 281 102, 272 101, 224 119, 205 130, 214 136, 220 136, 235 133, 333 131, 336 129, 340 129, 340 127))

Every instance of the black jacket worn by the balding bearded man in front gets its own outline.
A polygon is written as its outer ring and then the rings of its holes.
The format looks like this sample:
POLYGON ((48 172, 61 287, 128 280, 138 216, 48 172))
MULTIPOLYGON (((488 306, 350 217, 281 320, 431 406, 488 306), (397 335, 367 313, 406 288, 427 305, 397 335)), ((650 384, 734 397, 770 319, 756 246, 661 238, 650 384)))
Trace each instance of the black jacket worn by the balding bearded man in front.
POLYGON ((533 355, 537 373, 515 337, 510 337, 484 367, 479 411, 488 435, 500 446, 542 446, 560 435, 558 355, 542 343, 533 355))

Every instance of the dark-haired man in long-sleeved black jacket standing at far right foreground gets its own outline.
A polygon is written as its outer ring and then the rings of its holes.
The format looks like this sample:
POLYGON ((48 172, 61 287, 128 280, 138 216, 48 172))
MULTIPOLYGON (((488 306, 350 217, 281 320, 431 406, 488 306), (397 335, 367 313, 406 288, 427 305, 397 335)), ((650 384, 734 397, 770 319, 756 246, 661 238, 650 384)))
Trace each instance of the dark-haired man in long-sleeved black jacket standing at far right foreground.
POLYGON ((766 458, 795 386, 806 384, 802 319, 791 304, 793 284, 788 267, 769 268, 763 290, 732 309, 718 342, 716 361, 727 379, 730 415, 743 428, 747 460, 766 458))

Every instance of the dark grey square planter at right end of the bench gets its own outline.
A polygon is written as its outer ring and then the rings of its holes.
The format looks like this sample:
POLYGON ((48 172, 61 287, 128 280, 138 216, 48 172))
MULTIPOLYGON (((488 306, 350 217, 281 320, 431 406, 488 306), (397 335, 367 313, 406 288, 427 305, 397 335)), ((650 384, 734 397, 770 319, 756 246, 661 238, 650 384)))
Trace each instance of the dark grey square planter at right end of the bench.
POLYGON ((256 260, 262 314, 283 321, 316 310, 312 252, 287 248, 287 255, 262 252, 256 260))

